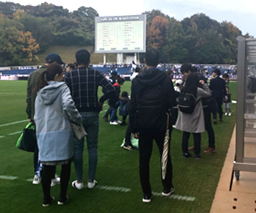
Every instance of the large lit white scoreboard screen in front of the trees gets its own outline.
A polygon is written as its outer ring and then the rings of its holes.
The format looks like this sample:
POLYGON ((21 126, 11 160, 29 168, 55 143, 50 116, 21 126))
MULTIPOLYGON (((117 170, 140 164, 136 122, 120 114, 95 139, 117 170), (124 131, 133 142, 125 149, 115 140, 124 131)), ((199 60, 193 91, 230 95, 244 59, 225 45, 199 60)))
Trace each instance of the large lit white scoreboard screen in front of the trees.
POLYGON ((95 17, 95 53, 146 52, 146 15, 95 17))

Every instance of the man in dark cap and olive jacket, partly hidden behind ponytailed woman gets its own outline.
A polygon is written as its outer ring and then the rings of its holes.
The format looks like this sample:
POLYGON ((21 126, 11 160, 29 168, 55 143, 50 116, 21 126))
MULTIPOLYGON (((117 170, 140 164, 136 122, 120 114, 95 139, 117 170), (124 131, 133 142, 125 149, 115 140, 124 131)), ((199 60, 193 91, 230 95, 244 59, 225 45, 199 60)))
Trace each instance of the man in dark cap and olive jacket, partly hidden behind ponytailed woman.
MULTIPOLYGON (((38 76, 41 74, 41 72, 45 71, 48 67, 48 65, 57 63, 59 65, 65 65, 63 60, 61 60, 60 55, 56 53, 50 53, 46 57, 46 64, 41 66, 38 70, 34 71, 29 75, 28 77, 28 84, 27 84, 27 97, 26 97, 26 113, 28 114, 28 121, 33 122, 33 116, 35 114, 35 100, 36 100, 36 93, 33 93, 33 88, 36 86, 36 81, 38 79, 38 76)), ((38 178, 38 175, 36 174, 37 166, 38 166, 38 147, 36 146, 36 150, 34 151, 34 171, 35 176, 33 178, 33 184, 37 185, 41 182, 40 178, 38 178)), ((58 183, 60 180, 59 178, 53 178, 51 186, 58 183)))

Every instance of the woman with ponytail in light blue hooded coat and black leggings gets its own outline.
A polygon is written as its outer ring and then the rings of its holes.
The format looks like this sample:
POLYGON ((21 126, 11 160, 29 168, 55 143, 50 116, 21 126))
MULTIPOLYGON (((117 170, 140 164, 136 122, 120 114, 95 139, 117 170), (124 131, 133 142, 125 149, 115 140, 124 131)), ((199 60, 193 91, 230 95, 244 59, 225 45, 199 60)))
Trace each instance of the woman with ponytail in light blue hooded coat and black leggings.
POLYGON ((70 121, 82 122, 78 109, 63 82, 63 67, 50 65, 38 77, 33 92, 38 92, 35 102, 36 138, 39 160, 43 164, 43 207, 53 202, 50 196, 51 175, 55 165, 61 165, 59 205, 68 201, 66 195, 70 180, 70 163, 74 154, 73 131, 70 121))

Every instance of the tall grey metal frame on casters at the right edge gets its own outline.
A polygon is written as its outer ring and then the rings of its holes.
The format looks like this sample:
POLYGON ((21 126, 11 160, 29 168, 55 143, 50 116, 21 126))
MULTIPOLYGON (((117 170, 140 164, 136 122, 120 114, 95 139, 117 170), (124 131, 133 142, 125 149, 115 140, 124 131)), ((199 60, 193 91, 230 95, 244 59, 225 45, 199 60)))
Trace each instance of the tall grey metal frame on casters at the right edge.
POLYGON ((236 144, 233 170, 256 172, 256 39, 238 36, 236 144), (255 79, 255 80, 254 80, 255 79))

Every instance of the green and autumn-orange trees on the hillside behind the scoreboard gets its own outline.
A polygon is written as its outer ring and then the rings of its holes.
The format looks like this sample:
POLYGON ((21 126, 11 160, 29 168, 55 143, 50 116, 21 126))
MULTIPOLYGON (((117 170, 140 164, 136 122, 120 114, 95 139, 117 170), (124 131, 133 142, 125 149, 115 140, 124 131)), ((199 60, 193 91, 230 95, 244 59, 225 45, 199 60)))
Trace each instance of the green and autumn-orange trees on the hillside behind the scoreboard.
MULTIPOLYGON (((233 23, 218 23, 203 13, 182 21, 159 10, 144 14, 146 46, 160 51, 161 62, 236 63, 236 37, 242 32, 233 23)), ((97 11, 85 6, 70 12, 47 2, 22 6, 0 1, 0 66, 29 65, 50 45, 94 45, 95 16, 97 11)))

